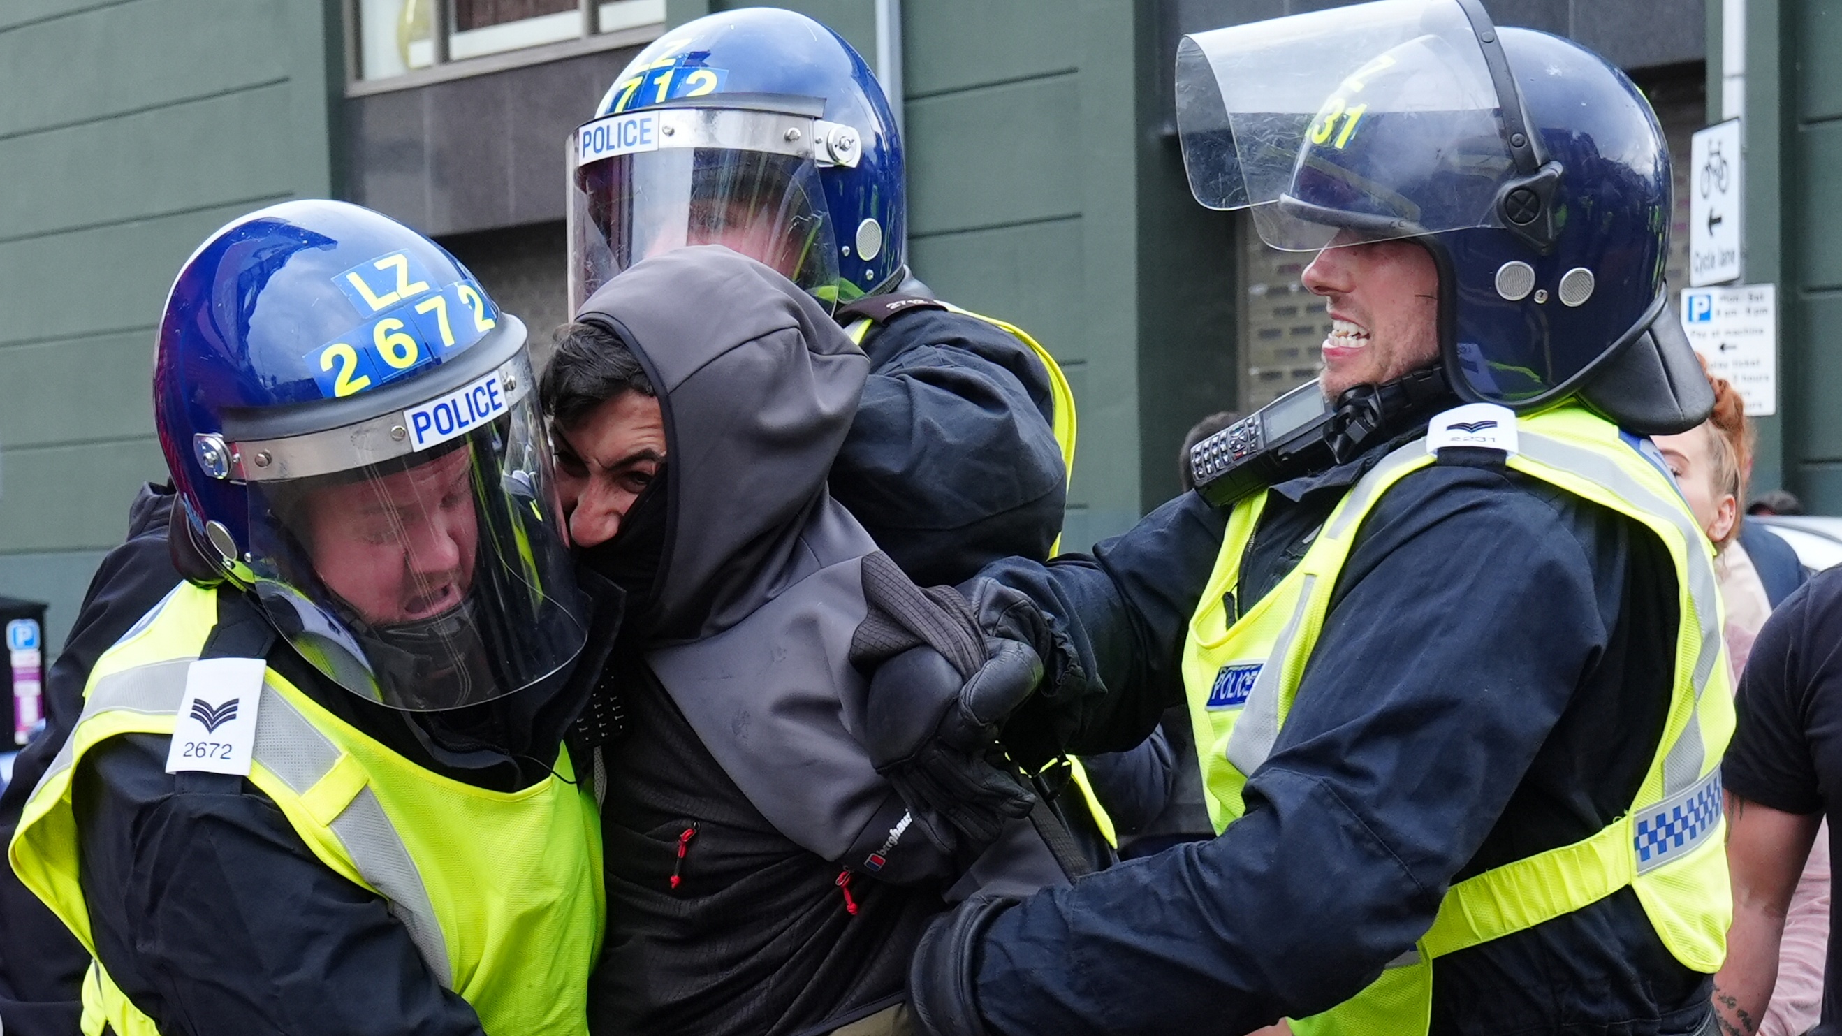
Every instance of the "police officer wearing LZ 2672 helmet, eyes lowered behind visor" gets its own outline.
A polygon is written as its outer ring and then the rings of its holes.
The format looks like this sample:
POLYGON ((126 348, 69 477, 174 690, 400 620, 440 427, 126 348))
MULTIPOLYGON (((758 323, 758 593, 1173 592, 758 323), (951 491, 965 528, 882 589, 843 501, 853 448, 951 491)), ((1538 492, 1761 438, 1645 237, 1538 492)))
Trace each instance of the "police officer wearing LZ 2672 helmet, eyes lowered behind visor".
POLYGON ((534 389, 523 324, 374 212, 265 208, 181 269, 188 581, 96 660, 11 842, 94 955, 85 1032, 586 1032, 600 861, 560 743, 608 623, 534 389))

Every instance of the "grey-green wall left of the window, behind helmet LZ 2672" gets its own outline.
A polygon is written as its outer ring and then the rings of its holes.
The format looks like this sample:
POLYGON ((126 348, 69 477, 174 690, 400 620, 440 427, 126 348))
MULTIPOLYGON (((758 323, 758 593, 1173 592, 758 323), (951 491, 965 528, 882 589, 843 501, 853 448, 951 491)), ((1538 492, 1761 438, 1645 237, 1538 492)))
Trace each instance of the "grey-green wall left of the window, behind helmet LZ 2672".
POLYGON ((262 205, 332 192, 322 0, 0 4, 0 594, 52 647, 127 527, 153 341, 181 262, 262 205))

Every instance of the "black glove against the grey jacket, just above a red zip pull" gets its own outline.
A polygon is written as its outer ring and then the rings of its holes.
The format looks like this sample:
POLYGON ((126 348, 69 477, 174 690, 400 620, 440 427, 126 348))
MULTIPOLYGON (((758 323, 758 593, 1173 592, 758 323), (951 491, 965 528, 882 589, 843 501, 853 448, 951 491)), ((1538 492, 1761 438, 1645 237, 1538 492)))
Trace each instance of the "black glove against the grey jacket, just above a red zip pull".
POLYGON ((997 745, 998 724, 1035 689, 1043 664, 1011 640, 962 677, 939 651, 914 647, 869 678, 864 712, 869 761, 895 785, 928 839, 976 854, 1035 796, 997 745))

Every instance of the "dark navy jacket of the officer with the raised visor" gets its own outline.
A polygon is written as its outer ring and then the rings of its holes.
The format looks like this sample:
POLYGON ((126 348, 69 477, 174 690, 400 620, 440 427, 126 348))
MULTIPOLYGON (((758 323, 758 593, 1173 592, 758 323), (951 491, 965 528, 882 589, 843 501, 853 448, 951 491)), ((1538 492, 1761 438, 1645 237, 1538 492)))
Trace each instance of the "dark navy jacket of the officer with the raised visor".
MULTIPOLYGON (((1243 601, 1385 450, 1278 487, 1243 601)), ((985 570, 1054 630, 1037 647, 1059 678, 1011 719, 1015 754, 1122 748, 1181 700, 1223 535, 1192 492, 1092 557, 985 570)), ((978 951, 984 1019, 1247 1032, 1348 999, 1431 925, 1450 883, 1625 813, 1661 737, 1674 594, 1661 544, 1619 514, 1499 465, 1404 477, 1337 579, 1247 815, 998 914, 978 951)), ((1708 994, 1625 889, 1439 959, 1431 1032, 1680 1034, 1708 994)))

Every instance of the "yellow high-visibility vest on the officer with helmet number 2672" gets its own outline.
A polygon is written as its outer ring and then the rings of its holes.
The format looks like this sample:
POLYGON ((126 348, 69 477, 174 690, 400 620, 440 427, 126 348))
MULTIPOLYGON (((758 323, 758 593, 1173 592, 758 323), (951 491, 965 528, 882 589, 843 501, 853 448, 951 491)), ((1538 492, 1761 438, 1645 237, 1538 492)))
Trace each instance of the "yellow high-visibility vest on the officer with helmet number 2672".
MULTIPOLYGON (((33 789, 9 846, 13 870, 90 951, 83 1032, 157 1036, 94 960, 77 885, 72 774, 122 734, 171 736, 186 673, 217 623, 217 592, 179 584, 90 673, 83 715, 33 789)), ((569 783, 567 752, 514 793, 429 772, 300 693, 274 669, 256 710, 251 783, 313 855, 389 901, 442 986, 486 1032, 588 1032, 588 975, 604 892, 595 802, 569 783)))

